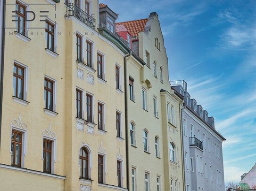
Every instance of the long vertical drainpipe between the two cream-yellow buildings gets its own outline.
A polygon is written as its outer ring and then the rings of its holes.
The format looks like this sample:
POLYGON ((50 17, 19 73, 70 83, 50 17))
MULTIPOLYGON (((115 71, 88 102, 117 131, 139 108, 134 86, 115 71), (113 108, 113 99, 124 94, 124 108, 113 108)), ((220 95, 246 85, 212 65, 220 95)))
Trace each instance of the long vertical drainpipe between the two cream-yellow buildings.
POLYGON ((126 60, 129 59, 129 57, 131 57, 132 55, 132 51, 130 51, 129 54, 127 54, 126 56, 124 56, 124 112, 125 112, 125 145, 126 145, 126 188, 127 190, 129 190, 129 152, 128 152, 128 146, 129 146, 129 142, 128 142, 128 135, 129 135, 129 130, 128 130, 128 108, 127 108, 127 66, 126 66, 126 60))

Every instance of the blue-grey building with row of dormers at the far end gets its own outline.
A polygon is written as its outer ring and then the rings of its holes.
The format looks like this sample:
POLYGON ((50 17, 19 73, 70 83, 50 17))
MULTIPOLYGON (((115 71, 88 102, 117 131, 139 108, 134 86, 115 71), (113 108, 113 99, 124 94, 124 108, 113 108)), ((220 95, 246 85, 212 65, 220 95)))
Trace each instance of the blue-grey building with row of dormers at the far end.
POLYGON ((184 80, 171 82, 183 95, 182 139, 185 191, 224 191, 222 143, 226 140, 215 130, 214 117, 191 99, 184 80))

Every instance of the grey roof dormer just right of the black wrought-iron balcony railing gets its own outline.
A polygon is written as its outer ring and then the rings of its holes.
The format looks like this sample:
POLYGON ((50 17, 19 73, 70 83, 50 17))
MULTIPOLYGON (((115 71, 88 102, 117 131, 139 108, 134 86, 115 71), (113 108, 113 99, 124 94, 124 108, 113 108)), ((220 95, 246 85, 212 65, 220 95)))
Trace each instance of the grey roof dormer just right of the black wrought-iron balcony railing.
POLYGON ((116 19, 118 15, 107 5, 99 4, 99 27, 106 27, 108 31, 116 33, 116 19))

